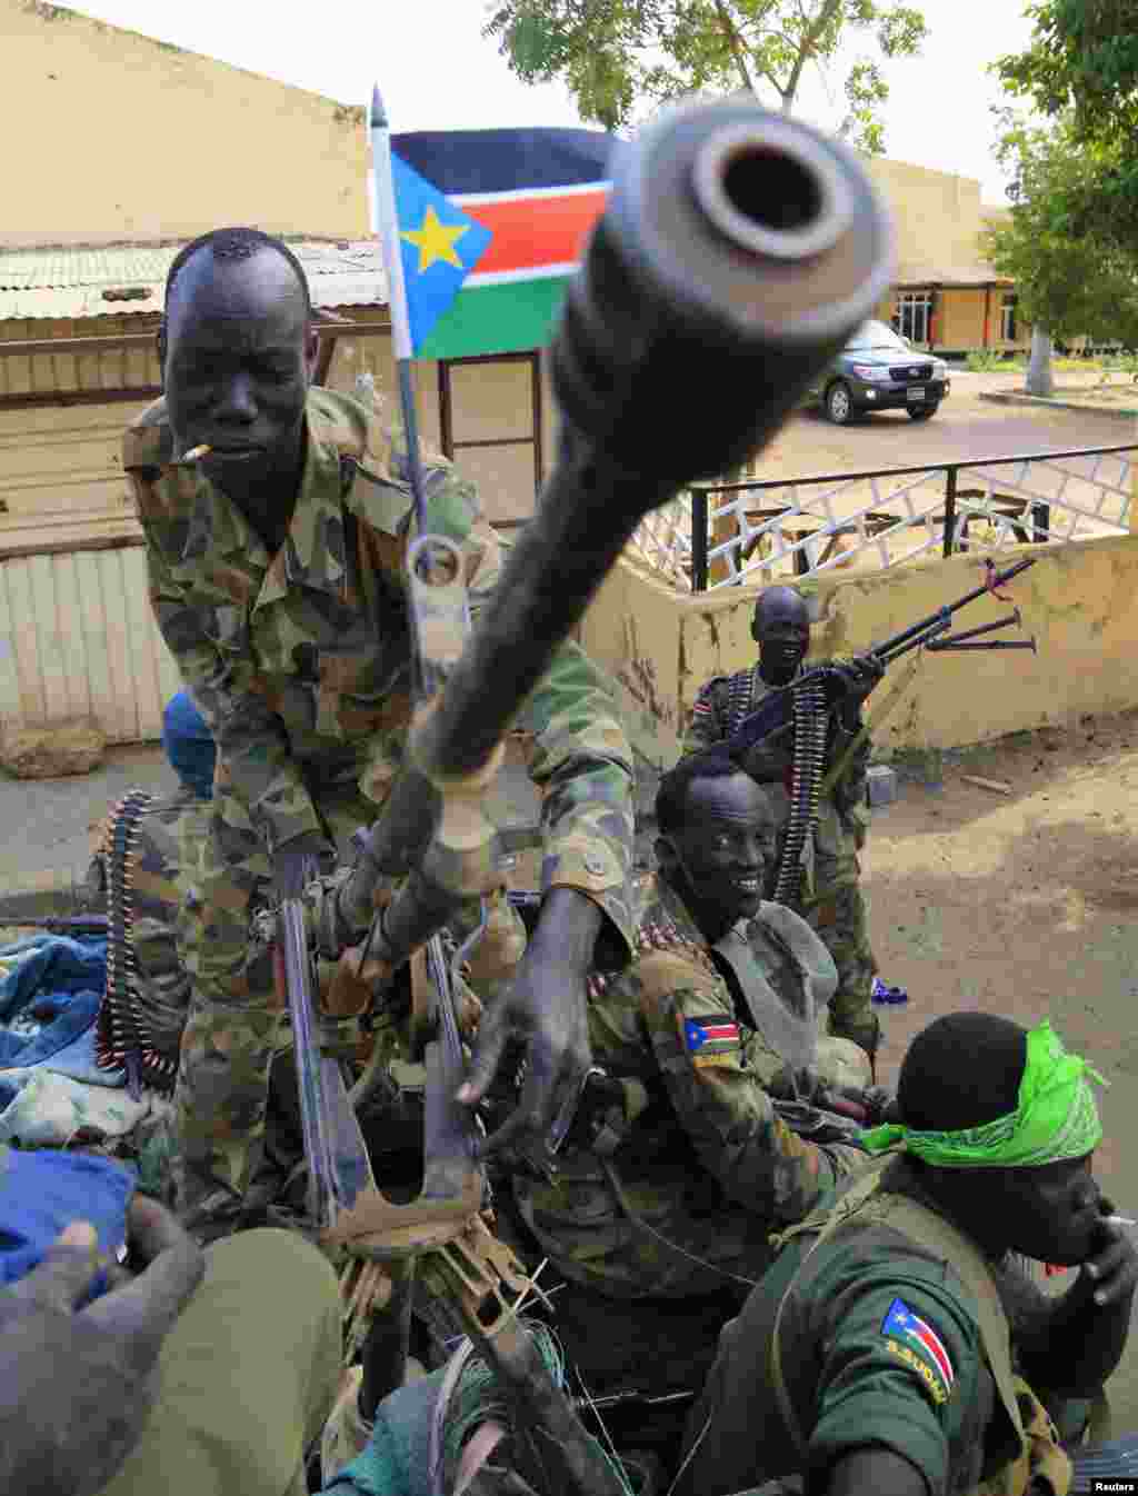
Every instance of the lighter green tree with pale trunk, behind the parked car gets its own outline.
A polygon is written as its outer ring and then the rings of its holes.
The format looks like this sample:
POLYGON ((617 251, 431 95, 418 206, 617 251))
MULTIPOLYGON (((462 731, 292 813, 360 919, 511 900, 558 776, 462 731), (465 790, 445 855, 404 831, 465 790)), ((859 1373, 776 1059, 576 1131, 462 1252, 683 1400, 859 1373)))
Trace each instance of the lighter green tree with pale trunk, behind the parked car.
POLYGON ((1015 281, 1033 329, 1026 387, 1050 393, 1050 340, 1089 337, 1138 346, 1138 254, 1110 235, 1086 233, 1069 203, 1095 183, 1099 160, 1080 145, 1071 114, 1035 126, 1009 111, 996 156, 1011 169, 1011 218, 982 235, 993 266, 1015 281))

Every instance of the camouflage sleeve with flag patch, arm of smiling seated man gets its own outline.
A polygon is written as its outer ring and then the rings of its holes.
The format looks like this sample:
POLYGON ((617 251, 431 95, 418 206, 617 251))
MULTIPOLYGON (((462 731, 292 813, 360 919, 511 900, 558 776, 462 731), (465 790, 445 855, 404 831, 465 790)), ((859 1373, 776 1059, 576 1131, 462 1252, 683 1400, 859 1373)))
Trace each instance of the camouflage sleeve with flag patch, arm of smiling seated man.
POLYGON ((639 975, 656 1064, 704 1168, 755 1215, 800 1221, 864 1153, 809 1143, 775 1113, 722 978, 664 951, 645 956, 639 975))

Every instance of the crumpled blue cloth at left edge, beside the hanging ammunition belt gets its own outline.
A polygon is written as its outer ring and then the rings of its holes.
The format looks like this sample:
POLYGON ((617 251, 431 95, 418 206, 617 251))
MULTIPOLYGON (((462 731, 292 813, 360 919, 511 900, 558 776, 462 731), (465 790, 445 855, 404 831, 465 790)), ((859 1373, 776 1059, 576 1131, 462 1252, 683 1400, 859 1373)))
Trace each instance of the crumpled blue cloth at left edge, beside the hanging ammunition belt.
MULTIPOLYGON (((42 1065, 96 1086, 121 1086, 123 1073, 96 1064, 96 1019, 106 987, 106 941, 36 935, 0 956, 30 951, 0 980, 0 1070, 42 1065)), ((0 1107, 16 1077, 0 1076, 0 1107)))

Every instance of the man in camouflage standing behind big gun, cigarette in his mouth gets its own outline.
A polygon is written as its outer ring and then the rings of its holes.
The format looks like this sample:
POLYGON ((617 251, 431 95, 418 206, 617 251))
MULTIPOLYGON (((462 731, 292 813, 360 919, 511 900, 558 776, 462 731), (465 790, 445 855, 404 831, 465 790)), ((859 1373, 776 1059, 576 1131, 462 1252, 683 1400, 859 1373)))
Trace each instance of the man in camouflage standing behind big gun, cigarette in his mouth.
MULTIPOLYGON (((286 245, 256 230, 194 241, 166 284, 166 395, 124 438, 151 604, 218 747, 208 835, 185 848, 191 996, 173 1170, 179 1210, 211 1233, 239 1218, 257 1167, 281 1017, 271 953, 250 942, 251 907, 274 883, 299 890, 310 856, 375 818, 411 712, 405 455, 372 408, 311 387, 316 352, 286 245)), ((426 506, 428 530, 465 555, 477 610, 499 549, 474 488, 432 459, 426 506)), ((523 726, 535 735, 546 898, 462 1094, 480 1100, 505 1040, 528 1041, 529 1086, 502 1143, 543 1138, 579 1085, 588 972, 598 959, 621 965, 633 935, 631 752, 580 651, 556 655, 523 726)))

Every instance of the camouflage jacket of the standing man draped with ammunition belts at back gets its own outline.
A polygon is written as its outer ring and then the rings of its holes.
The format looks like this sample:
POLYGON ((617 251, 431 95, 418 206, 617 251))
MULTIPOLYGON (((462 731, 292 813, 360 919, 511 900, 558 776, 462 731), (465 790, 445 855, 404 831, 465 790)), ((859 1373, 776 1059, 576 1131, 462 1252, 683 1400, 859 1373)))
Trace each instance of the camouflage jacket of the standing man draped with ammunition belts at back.
MULTIPOLYGON (((811 660, 809 667, 828 663, 827 660, 811 660)), ((700 748, 710 748, 712 744, 730 736, 733 727, 737 726, 733 723, 736 703, 743 711, 758 711, 764 699, 775 690, 778 687, 767 685, 758 673, 758 664, 748 670, 737 670, 734 675, 712 676, 695 697, 688 732, 683 738, 683 751, 698 752, 700 748)), ((839 729, 836 718, 831 717, 825 751, 827 770, 845 752, 848 742, 849 736, 839 729)), ((827 797, 828 803, 822 802, 818 817, 819 845, 833 839, 840 842, 842 832, 851 833, 858 847, 864 842, 869 823, 864 805, 870 749, 872 744, 866 738, 827 797)), ((760 784, 782 784, 788 793, 793 764, 794 729, 790 724, 776 729, 746 755, 746 770, 754 779, 758 779, 760 784)), ((837 851, 840 847, 825 847, 824 850, 837 851)))

